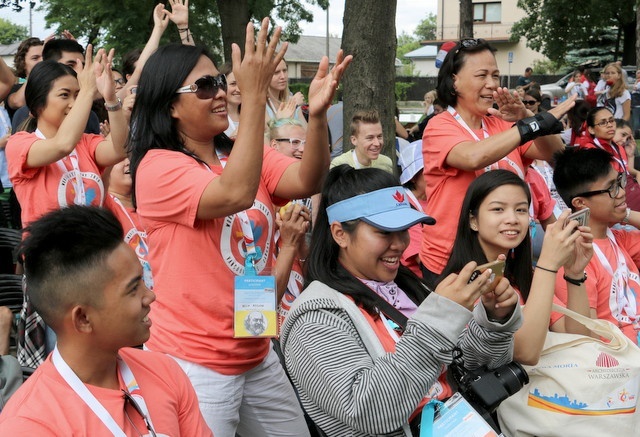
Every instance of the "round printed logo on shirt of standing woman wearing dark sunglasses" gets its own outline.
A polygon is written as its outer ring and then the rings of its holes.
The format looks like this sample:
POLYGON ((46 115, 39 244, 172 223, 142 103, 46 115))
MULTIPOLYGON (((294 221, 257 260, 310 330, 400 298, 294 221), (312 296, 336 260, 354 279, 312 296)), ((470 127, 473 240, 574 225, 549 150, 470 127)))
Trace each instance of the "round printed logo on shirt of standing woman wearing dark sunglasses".
MULTIPOLYGON (((260 248, 260 259, 255 263, 256 271, 260 273, 267 265, 271 256, 271 241, 273 238, 273 213, 259 200, 254 200, 251 209, 245 211, 251 223, 252 240, 260 248)), ((227 216, 222 224, 220 234, 220 249, 224 262, 237 275, 244 275, 244 260, 247 254, 245 235, 236 215, 227 216)))

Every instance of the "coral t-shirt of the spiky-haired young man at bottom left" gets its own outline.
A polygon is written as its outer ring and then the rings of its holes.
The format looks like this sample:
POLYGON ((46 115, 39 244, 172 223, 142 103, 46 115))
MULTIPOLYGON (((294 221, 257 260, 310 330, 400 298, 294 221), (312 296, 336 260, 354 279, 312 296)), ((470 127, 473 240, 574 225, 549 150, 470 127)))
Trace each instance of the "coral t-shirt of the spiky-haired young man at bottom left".
MULTIPOLYGON (((120 350, 131 369, 158 436, 212 436, 198 398, 178 363, 155 352, 120 350)), ((127 407, 121 390, 86 384, 118 426, 129 436, 147 429, 142 418, 127 407), (131 424, 135 423, 135 427, 131 424)), ((125 388, 122 380, 120 387, 125 388)), ((9 399, 0 414, 2 435, 60 435, 107 437, 113 434, 62 378, 51 355, 9 399)))

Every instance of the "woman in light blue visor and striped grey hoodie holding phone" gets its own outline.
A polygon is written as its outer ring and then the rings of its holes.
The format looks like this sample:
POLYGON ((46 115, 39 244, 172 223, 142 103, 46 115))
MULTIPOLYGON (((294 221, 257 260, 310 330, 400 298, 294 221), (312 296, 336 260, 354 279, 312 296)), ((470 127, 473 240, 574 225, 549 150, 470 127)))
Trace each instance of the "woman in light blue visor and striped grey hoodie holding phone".
POLYGON ((394 176, 347 165, 329 172, 307 287, 280 336, 300 400, 326 435, 417 435, 423 406, 453 394, 446 351, 459 347, 471 368, 511 360, 516 293, 485 294, 489 272, 469 282, 474 262, 429 290, 400 264, 416 223, 435 220, 409 206, 394 176))

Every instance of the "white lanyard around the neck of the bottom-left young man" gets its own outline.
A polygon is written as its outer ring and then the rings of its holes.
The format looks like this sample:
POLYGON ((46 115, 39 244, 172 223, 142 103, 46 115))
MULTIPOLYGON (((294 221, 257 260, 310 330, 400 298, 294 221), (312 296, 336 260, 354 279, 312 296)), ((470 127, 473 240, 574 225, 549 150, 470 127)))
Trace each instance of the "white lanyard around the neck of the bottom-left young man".
MULTIPOLYGON (((109 414, 107 409, 100 403, 100 401, 98 401, 98 399, 96 399, 93 393, 89 391, 87 386, 84 385, 80 378, 78 378, 78 375, 75 374, 73 369, 71 369, 71 367, 69 367, 66 361, 62 358, 62 355, 60 355, 60 352, 58 351, 58 346, 56 346, 53 350, 51 361, 53 362, 53 365, 55 366, 58 373, 60 373, 60 376, 62 376, 67 384, 69 384, 71 389, 78 396, 80 396, 80 399, 82 399, 85 404, 87 404, 87 406, 91 408, 91 411, 93 411, 95 415, 98 416, 98 418, 102 421, 102 423, 105 424, 109 431, 111 431, 114 436, 127 437, 127 434, 122 430, 122 428, 120 428, 111 414, 109 414)), ((136 401, 140 407, 140 410, 149 421, 151 428, 153 428, 151 417, 149 416, 149 411, 147 410, 147 405, 144 403, 144 399, 142 399, 142 396, 139 393, 140 387, 138 386, 138 383, 136 382, 131 369, 121 358, 118 358, 118 371, 120 372, 120 376, 122 377, 122 380, 124 381, 129 393, 132 394, 137 391, 137 393, 135 394, 136 401)))

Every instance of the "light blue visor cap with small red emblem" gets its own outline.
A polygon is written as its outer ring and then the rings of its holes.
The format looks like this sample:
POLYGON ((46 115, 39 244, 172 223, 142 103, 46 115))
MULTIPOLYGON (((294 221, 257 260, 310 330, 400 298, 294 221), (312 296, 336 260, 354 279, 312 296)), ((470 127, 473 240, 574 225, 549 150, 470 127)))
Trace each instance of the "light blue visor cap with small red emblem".
POLYGON ((329 224, 360 219, 383 231, 404 231, 416 223, 435 224, 436 220, 411 208, 402 187, 389 187, 360 194, 327 208, 329 224))

